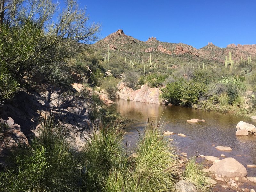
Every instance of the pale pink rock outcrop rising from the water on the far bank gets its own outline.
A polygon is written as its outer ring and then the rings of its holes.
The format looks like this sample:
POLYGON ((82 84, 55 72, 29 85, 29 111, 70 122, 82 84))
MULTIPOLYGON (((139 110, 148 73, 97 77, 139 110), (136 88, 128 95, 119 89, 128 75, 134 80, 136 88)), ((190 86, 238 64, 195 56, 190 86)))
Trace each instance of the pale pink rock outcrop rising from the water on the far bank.
POLYGON ((140 89, 134 91, 132 88, 128 87, 127 84, 121 82, 118 86, 117 98, 160 104, 161 100, 159 96, 161 93, 162 91, 159 88, 150 88, 148 85, 142 85, 140 89))

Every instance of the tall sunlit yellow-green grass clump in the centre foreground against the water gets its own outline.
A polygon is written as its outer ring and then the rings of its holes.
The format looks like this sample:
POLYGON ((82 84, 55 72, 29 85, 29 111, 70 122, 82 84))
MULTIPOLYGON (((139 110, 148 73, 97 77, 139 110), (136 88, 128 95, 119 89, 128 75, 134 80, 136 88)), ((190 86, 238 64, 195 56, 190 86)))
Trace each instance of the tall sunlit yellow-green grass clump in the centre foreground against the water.
POLYGON ((137 157, 132 172, 134 191, 170 191, 174 186, 173 170, 177 163, 175 148, 162 135, 162 124, 147 123, 139 133, 137 157))

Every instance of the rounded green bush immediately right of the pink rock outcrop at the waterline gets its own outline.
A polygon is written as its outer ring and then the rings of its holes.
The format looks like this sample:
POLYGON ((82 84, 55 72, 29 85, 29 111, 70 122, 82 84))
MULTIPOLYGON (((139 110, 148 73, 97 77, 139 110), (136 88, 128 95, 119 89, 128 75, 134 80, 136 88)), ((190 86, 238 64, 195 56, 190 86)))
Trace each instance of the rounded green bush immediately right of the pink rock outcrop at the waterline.
POLYGON ((182 97, 182 87, 185 83, 186 80, 184 78, 180 78, 178 81, 168 83, 165 88, 161 89, 163 92, 161 97, 174 105, 180 104, 180 99, 182 97))

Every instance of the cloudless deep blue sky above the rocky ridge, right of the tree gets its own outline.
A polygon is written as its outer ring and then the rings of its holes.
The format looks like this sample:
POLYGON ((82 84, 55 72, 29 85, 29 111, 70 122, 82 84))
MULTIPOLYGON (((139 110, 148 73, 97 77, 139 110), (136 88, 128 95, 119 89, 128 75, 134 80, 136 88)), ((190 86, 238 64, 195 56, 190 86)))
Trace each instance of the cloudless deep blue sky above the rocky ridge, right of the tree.
POLYGON ((256 0, 78 0, 90 21, 99 23, 100 39, 123 29, 146 41, 185 43, 196 48, 208 42, 256 44, 256 0))

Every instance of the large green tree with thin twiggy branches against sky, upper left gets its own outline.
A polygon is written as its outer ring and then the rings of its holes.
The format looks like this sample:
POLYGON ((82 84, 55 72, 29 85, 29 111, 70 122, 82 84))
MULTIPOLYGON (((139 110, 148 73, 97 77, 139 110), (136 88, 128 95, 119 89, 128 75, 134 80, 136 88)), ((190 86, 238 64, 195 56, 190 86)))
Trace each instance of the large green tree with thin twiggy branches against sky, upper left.
POLYGON ((58 13, 51 0, 0 0, 0 60, 14 80, 67 66, 67 59, 97 39, 100 26, 87 24, 76 0, 64 4, 58 13))

